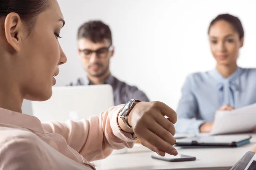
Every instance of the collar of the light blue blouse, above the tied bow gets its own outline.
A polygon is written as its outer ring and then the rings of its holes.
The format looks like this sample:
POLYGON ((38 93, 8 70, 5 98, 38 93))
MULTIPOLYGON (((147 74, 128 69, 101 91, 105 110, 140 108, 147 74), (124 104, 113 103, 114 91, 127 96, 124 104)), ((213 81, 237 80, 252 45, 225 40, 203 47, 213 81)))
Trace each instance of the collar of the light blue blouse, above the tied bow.
POLYGON ((242 72, 243 69, 238 67, 236 71, 230 75, 230 77, 225 78, 217 71, 217 69, 214 69, 209 71, 209 75, 213 78, 213 83, 217 88, 221 88, 225 83, 229 83, 233 90, 239 91, 240 82, 237 78, 242 74, 242 72))

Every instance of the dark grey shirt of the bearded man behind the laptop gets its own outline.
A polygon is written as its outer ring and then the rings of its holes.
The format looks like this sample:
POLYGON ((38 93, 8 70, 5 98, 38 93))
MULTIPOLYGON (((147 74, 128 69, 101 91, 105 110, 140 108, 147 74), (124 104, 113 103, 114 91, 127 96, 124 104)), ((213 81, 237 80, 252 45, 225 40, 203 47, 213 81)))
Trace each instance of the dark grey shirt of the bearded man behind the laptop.
MULTIPOLYGON (((130 99, 137 99, 143 102, 149 102, 148 97, 140 91, 137 87, 131 86, 122 82, 116 77, 110 75, 106 79, 105 84, 111 85, 113 88, 114 104, 120 105, 128 102, 130 99)), ((76 80, 76 82, 71 82, 70 86, 73 85, 93 85, 87 77, 82 77, 76 80)))

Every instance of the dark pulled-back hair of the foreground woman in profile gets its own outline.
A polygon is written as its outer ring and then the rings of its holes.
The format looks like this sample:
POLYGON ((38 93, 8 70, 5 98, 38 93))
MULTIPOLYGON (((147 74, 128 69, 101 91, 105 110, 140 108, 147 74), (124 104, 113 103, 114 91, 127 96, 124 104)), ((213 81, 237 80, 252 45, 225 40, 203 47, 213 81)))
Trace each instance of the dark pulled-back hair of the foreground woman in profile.
POLYGON ((15 12, 32 27, 35 17, 49 8, 49 0, 0 0, 0 17, 15 12))

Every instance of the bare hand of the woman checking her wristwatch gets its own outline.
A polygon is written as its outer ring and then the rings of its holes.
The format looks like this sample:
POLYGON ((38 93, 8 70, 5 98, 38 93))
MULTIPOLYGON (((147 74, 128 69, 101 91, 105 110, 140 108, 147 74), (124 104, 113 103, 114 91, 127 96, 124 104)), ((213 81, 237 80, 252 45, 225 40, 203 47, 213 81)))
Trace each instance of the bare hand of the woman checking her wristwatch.
POLYGON ((176 143, 173 137, 176 121, 176 112, 162 102, 139 102, 128 116, 128 123, 140 143, 161 156, 177 155, 172 146, 176 143))

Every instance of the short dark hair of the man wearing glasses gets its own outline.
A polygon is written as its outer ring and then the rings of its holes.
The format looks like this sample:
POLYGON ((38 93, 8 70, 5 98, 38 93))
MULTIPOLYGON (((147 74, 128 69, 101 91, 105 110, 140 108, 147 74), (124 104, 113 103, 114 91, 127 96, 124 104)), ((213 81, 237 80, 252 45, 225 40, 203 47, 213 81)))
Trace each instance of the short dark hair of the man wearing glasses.
POLYGON ((108 25, 102 21, 89 21, 84 23, 78 29, 78 40, 87 38, 94 43, 103 42, 107 39, 112 44, 112 35, 108 25))

